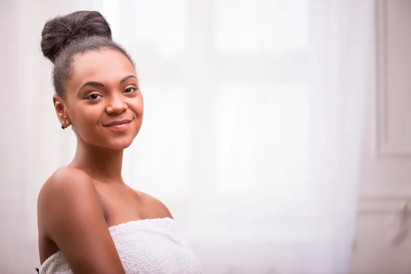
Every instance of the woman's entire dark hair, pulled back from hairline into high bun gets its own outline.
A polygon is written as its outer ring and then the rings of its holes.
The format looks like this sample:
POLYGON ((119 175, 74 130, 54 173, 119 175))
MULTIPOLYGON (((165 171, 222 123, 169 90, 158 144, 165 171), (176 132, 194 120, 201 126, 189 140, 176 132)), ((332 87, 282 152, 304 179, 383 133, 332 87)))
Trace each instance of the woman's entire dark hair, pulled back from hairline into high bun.
POLYGON ((73 57, 86 51, 114 49, 132 58, 112 40, 110 25, 100 12, 78 11, 57 16, 45 23, 42 30, 41 50, 54 64, 53 86, 55 93, 65 97, 64 83, 71 76, 73 57))

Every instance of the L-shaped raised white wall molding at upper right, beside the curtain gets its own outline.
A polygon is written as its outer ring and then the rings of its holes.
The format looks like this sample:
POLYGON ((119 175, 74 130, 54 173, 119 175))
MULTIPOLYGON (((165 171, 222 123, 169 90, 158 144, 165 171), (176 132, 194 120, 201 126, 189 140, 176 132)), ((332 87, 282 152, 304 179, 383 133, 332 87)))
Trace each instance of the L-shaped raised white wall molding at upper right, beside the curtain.
POLYGON ((375 7, 375 45, 376 45, 376 136, 377 154, 389 156, 411 156, 411 142, 394 144, 388 138, 388 94, 386 45, 388 32, 388 3, 390 0, 377 0, 375 7))

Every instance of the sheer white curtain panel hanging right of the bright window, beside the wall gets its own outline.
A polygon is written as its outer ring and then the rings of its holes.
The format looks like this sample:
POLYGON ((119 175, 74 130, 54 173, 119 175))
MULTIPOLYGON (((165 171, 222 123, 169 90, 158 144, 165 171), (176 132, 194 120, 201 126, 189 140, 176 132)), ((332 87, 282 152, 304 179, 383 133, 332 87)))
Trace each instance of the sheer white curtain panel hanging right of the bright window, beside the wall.
POLYGON ((314 0, 310 15, 311 171, 325 243, 317 265, 347 273, 373 75, 374 1, 314 0))

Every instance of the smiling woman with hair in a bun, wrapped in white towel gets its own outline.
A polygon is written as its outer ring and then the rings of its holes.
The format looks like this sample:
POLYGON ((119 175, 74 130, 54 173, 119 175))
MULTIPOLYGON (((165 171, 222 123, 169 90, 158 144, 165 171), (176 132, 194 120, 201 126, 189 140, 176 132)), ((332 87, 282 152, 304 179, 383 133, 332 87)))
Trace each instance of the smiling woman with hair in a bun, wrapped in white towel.
POLYGON ((55 112, 77 151, 38 196, 39 273, 203 273, 166 206, 121 177, 143 100, 107 21, 90 11, 53 18, 41 48, 54 64, 55 112))

